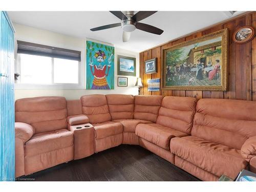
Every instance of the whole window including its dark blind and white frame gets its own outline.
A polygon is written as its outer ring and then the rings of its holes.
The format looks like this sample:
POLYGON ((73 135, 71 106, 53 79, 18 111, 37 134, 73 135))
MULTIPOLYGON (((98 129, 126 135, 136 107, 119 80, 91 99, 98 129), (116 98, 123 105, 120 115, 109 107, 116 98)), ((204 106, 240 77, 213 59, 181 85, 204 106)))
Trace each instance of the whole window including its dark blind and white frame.
POLYGON ((25 89, 79 86, 80 52, 24 41, 17 41, 17 45, 18 86, 26 85, 25 89))

